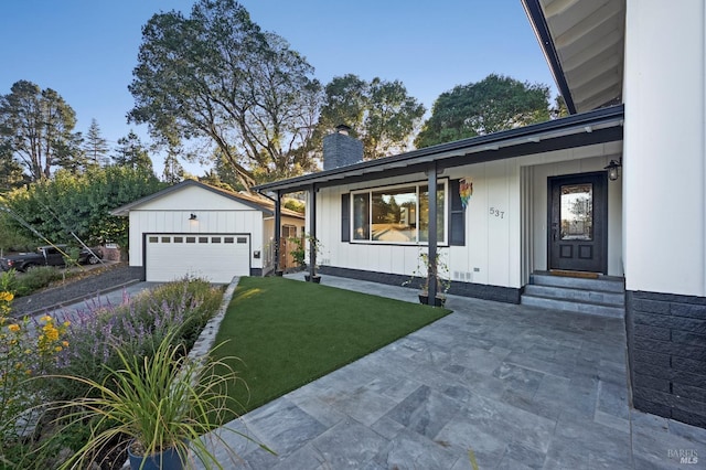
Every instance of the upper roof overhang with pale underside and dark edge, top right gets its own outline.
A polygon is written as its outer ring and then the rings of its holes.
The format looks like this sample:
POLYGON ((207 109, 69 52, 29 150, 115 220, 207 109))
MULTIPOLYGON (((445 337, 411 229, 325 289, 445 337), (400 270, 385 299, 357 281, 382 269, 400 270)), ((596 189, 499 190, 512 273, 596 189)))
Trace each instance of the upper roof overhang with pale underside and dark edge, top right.
POLYGON ((569 113, 622 102, 625 0, 522 0, 569 113))

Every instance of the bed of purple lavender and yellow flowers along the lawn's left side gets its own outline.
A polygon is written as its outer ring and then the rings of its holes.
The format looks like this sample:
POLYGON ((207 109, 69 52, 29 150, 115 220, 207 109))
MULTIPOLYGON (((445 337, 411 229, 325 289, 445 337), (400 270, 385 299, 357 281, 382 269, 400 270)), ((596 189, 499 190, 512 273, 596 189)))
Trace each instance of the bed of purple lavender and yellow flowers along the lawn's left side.
POLYGON ((96 398, 100 389, 93 383, 117 387, 108 378, 121 368, 121 356, 151 356, 165 339, 170 351, 184 354, 223 297, 205 280, 182 279, 126 296, 119 306, 94 300, 76 316, 17 320, 10 316, 10 281, 0 276, 0 470, 56 468, 57 455, 65 459, 83 448, 95 429, 56 421, 56 410, 36 419, 41 405, 96 398), (172 333, 176 327, 179 334, 172 333))

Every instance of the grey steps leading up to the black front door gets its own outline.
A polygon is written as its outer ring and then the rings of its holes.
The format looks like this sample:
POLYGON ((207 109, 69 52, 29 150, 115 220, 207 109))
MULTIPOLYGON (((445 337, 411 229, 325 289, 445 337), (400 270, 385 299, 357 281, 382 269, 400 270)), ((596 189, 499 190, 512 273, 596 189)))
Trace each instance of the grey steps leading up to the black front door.
POLYGON ((534 274, 521 303, 554 310, 623 318, 625 293, 622 278, 598 279, 534 274))

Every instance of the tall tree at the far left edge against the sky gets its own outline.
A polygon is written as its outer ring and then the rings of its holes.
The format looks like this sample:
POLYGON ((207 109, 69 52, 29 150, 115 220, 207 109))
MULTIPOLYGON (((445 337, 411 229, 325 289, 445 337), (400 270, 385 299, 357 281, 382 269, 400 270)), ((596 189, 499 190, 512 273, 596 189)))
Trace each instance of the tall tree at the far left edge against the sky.
POLYGON ((32 181, 50 178, 54 167, 84 165, 81 133, 74 132, 76 114, 51 88, 15 82, 0 96, 0 141, 12 152, 32 181))

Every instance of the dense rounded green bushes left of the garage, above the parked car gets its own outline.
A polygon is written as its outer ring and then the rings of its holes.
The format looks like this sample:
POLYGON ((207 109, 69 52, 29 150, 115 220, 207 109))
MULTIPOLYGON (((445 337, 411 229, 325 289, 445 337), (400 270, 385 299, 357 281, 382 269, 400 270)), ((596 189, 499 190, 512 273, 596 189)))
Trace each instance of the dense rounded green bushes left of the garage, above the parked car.
MULTIPOLYGON (((54 243, 73 242, 73 232, 88 244, 116 242, 127 247, 128 221, 109 212, 164 186, 141 168, 90 168, 78 175, 60 170, 51 179, 7 194, 0 203, 54 243)), ((19 234, 35 237, 9 220, 19 234)))

